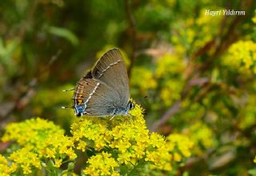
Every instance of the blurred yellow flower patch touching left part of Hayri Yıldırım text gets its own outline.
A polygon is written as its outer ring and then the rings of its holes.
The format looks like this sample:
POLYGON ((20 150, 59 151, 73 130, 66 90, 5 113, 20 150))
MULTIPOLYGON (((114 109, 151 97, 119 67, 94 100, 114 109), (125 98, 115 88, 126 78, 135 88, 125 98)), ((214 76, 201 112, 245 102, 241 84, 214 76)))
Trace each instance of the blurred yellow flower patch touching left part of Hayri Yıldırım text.
POLYGON ((202 9, 198 18, 184 18, 184 21, 181 20, 175 25, 175 34, 171 38, 171 42, 174 43, 174 50, 179 55, 186 56, 191 51, 199 50, 218 34, 222 15, 206 15, 206 10, 209 9, 222 10, 221 7, 202 9), (209 24, 212 25, 209 26, 209 24))

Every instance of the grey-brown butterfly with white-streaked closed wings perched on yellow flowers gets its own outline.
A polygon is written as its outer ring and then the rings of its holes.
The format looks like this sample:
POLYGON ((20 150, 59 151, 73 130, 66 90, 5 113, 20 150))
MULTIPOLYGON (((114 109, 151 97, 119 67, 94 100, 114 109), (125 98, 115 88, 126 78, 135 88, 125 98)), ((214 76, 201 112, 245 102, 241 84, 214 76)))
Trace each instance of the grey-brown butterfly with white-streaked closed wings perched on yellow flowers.
POLYGON ((108 50, 94 67, 77 82, 74 89, 74 114, 94 117, 129 115, 129 79, 121 52, 108 50))

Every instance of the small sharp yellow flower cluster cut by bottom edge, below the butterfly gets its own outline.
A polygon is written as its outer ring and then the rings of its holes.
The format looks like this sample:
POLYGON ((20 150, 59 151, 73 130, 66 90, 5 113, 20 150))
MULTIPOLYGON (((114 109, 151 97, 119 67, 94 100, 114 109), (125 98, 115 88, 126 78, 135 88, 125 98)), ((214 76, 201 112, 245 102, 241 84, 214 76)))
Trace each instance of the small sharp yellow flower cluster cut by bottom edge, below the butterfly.
POLYGON ((118 166, 118 162, 111 157, 111 154, 107 152, 102 152, 101 154, 96 154, 90 157, 88 160, 90 166, 88 166, 83 172, 88 175, 120 175, 114 170, 114 167, 118 166))

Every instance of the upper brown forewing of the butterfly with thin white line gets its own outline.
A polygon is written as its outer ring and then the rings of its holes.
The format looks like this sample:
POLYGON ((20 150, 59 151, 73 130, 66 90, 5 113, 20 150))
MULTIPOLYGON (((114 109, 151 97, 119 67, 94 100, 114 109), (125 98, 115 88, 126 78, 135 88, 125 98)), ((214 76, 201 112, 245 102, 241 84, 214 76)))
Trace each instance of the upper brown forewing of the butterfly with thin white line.
POLYGON ((130 98, 129 79, 125 62, 118 49, 112 49, 103 54, 102 58, 96 62, 91 74, 95 80, 104 82, 110 87, 108 94, 118 96, 115 98, 116 106, 127 106, 130 98))

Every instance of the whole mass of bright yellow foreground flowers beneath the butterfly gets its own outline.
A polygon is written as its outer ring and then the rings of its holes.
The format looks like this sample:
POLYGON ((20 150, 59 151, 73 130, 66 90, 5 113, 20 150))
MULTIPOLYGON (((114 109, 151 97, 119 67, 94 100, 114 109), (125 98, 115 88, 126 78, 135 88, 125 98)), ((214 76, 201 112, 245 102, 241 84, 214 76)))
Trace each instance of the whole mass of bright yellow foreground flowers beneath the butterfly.
POLYGON ((17 142, 19 149, 12 151, 8 160, 0 155, 0 171, 9 175, 18 170, 23 174, 38 173, 36 170, 42 170, 42 166, 46 170, 58 169, 63 162, 77 157, 74 147, 83 152, 94 151, 83 170, 88 175, 127 174, 143 167, 172 170, 171 161, 190 157, 192 146, 182 135, 170 135, 166 141, 160 134, 150 134, 138 104, 130 110, 130 117, 115 117, 111 121, 78 118, 71 126, 71 134, 65 136, 53 122, 41 118, 8 125, 2 141, 17 142))

